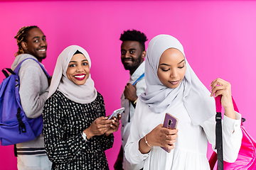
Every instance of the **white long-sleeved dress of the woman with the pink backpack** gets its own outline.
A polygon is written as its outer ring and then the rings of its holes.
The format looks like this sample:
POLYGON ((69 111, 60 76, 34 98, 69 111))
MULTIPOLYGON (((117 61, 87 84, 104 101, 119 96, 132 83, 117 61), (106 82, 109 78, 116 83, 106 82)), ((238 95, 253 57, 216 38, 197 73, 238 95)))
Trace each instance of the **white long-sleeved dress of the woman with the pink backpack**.
MULTIPOLYGON (((214 108, 213 108, 214 109, 214 108)), ((242 141, 241 115, 237 120, 223 118, 223 157, 226 162, 235 162, 242 141)), ((132 164, 144 162, 144 170, 208 170, 206 157, 208 142, 215 147, 215 115, 201 125, 193 125, 182 99, 162 113, 151 112, 146 104, 137 101, 131 132, 124 147, 127 160, 132 164), (153 147, 148 154, 139 152, 139 140, 157 125, 164 123, 166 113, 178 118, 178 137, 170 153, 153 147)))

